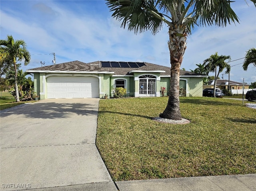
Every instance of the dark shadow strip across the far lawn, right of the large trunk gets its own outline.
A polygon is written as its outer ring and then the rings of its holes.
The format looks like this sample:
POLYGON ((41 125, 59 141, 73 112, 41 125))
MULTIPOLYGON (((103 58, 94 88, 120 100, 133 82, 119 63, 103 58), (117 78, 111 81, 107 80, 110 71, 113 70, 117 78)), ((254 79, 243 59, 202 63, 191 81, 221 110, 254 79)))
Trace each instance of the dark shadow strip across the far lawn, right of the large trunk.
POLYGON ((242 106, 238 103, 237 100, 234 100, 234 102, 225 102, 222 100, 222 98, 215 98, 215 100, 208 100, 208 99, 202 99, 202 98, 193 98, 193 99, 180 99, 180 103, 189 103, 189 104, 199 104, 199 105, 213 105, 213 106, 242 106))

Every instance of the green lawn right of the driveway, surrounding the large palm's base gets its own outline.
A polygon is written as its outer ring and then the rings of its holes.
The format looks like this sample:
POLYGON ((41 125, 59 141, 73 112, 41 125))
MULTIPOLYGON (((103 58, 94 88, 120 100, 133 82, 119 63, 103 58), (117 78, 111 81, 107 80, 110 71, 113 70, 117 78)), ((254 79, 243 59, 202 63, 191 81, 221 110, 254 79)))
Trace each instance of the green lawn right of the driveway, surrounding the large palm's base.
POLYGON ((96 145, 114 181, 256 173, 256 110, 181 97, 190 124, 151 120, 167 97, 100 100, 96 145))

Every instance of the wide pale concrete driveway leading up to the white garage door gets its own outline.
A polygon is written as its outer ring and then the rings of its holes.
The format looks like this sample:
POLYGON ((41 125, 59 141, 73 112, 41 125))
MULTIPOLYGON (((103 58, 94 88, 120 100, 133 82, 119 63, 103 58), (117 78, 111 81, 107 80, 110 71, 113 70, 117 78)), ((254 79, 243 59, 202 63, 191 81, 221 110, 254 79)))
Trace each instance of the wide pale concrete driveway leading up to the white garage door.
POLYGON ((1 189, 114 186, 95 145, 98 102, 48 99, 1 111, 1 189))

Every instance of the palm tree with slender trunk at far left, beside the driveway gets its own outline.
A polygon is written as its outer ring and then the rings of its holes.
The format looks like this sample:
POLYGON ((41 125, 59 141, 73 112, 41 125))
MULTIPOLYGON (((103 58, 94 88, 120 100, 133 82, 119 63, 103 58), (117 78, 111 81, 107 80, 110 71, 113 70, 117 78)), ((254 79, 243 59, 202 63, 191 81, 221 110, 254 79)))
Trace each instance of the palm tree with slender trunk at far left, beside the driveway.
POLYGON ((11 60, 14 65, 15 71, 15 93, 16 102, 20 102, 19 92, 18 92, 18 71, 17 71, 17 61, 24 60, 24 65, 28 65, 30 61, 30 53, 26 48, 26 43, 24 40, 14 40, 12 35, 7 35, 6 40, 0 40, 0 62, 3 63, 6 60, 11 60))

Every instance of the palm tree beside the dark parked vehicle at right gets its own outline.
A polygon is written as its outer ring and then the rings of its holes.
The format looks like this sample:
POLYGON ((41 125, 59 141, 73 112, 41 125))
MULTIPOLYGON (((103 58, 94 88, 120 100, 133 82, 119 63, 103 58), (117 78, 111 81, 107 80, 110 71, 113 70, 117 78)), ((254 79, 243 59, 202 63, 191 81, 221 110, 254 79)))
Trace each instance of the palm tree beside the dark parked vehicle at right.
POLYGON ((226 55, 218 55, 218 53, 216 52, 215 54, 211 55, 208 59, 204 60, 204 65, 205 68, 210 71, 210 72, 214 72, 215 76, 214 76, 214 93, 213 96, 215 97, 215 90, 216 90, 216 83, 217 83, 217 79, 219 77, 219 74, 226 68, 225 73, 228 74, 230 73, 230 69, 231 66, 225 62, 225 60, 230 61, 231 57, 230 56, 226 56, 226 55))

